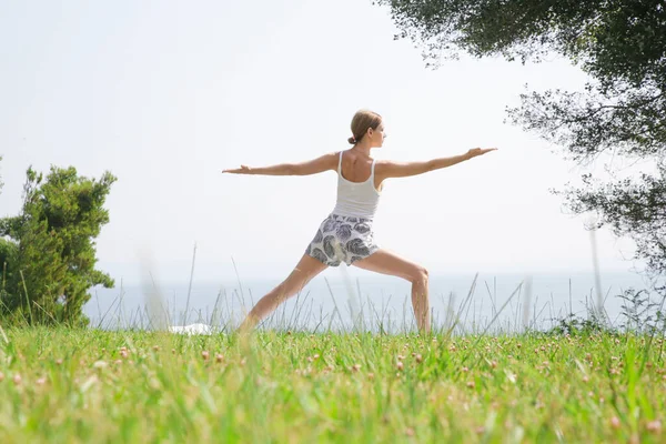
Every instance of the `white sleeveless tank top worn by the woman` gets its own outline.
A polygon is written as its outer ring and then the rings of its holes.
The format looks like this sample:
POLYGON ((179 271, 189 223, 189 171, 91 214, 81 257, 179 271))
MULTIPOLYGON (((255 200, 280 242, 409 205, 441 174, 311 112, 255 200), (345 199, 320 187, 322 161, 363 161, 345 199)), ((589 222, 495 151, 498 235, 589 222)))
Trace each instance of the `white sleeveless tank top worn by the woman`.
POLYGON ((342 151, 337 162, 337 202, 333 214, 373 219, 380 204, 380 192, 374 186, 374 164, 365 182, 350 182, 342 176, 342 151))

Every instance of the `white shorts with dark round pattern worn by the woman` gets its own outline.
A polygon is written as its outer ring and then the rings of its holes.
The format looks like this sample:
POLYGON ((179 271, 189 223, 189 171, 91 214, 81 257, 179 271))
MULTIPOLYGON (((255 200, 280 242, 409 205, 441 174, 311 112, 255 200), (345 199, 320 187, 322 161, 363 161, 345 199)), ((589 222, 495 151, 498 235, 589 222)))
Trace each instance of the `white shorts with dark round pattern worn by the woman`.
POLYGON ((371 220, 330 214, 320 225, 305 254, 329 266, 337 266, 342 262, 351 265, 379 249, 373 240, 371 220))

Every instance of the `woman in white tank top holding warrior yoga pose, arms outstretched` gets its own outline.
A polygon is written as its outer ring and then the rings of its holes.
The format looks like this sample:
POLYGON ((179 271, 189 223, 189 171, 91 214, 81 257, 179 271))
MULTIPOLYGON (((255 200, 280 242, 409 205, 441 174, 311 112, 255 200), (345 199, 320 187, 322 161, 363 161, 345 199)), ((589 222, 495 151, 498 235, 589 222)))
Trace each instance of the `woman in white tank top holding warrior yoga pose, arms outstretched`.
POLYGON ((385 137, 382 117, 372 111, 361 110, 352 119, 352 137, 347 140, 352 148, 346 151, 324 154, 302 163, 264 168, 241 165, 239 169, 222 171, 266 175, 310 175, 329 170, 337 171, 337 202, 333 212, 320 225, 294 271, 250 311, 239 329, 241 332, 253 329, 327 266, 337 266, 342 262, 410 281, 416 324, 420 331, 430 332, 427 271, 414 262, 381 249, 373 240, 372 223, 380 202, 382 183, 390 178, 405 178, 455 165, 496 148, 474 148, 465 154, 426 162, 372 159, 371 150, 381 148, 385 137))

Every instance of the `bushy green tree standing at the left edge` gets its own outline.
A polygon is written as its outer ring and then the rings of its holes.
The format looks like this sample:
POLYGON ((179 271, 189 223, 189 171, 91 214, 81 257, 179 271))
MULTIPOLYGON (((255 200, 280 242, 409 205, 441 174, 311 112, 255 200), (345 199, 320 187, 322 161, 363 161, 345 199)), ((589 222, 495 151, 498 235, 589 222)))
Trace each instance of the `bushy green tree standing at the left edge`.
POLYGON ((71 167, 52 167, 46 180, 28 170, 20 215, 0 220, 0 235, 10 238, 4 250, 0 244, 0 260, 9 265, 6 312, 30 323, 88 323, 82 313, 88 290, 113 286, 94 269, 94 239, 109 222, 103 204, 114 181, 109 172, 99 181, 82 178, 71 167))

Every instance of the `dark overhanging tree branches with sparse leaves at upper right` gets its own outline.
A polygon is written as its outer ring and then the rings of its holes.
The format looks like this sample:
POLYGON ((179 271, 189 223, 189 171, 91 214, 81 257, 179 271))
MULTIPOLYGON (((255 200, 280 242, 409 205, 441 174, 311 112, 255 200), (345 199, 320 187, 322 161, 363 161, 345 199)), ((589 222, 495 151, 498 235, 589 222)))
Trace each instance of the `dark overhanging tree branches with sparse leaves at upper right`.
POLYGON ((401 29, 424 47, 424 59, 466 52, 539 62, 568 58, 589 75, 585 92, 522 94, 508 110, 514 124, 564 148, 589 165, 602 153, 652 163, 638 176, 589 173, 583 185, 553 191, 574 214, 596 212, 587 228, 609 225, 636 243, 648 274, 666 275, 666 11, 663 0, 379 0, 401 29), (654 170, 654 171, 649 171, 654 170))

